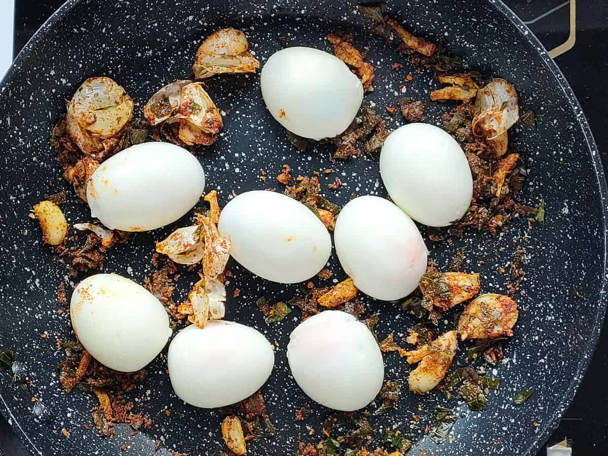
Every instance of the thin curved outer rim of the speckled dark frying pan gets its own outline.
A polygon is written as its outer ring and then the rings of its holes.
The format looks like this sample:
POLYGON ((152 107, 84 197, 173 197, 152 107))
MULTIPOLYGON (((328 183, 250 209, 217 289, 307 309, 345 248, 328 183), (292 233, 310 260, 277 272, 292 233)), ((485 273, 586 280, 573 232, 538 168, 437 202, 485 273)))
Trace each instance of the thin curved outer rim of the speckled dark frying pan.
MULTIPOLYGON (((22 62, 29 55, 30 49, 36 46, 41 40, 43 40, 46 33, 52 27, 57 24, 64 16, 66 16, 77 4, 79 4, 82 0, 66 0, 63 5, 61 5, 45 22, 44 24, 36 30, 36 32, 32 35, 29 41, 27 41, 26 45, 19 51, 19 54, 9 67, 9 70, 6 72, 2 80, 0 81, 0 88, 3 87, 7 80, 12 78, 13 73, 16 71, 18 67, 21 66, 22 62)), ((593 138, 592 131, 589 126, 589 122, 587 122, 587 117, 585 113, 582 111, 581 104, 578 101, 574 91, 570 87, 567 79, 562 73, 559 66, 555 63, 555 61, 549 57, 547 50, 539 41, 539 39, 534 35, 534 33, 530 30, 530 28, 520 19, 513 10, 510 9, 506 4, 502 2, 502 0, 485 0, 488 6, 492 9, 497 10, 503 16, 508 19, 508 21, 516 27, 518 32, 523 35, 523 38, 528 41, 528 43, 533 46, 539 57, 541 57, 547 69, 551 72, 559 87, 564 92, 565 97, 568 99, 570 103, 570 108, 575 112, 576 118, 578 120, 579 126, 581 127, 582 133, 585 137, 587 148, 591 155, 591 160, 593 164, 593 170, 595 171, 595 176, 597 179, 599 196, 601 201, 608 201, 608 186, 606 184, 606 176, 604 174, 604 168, 601 163, 601 158, 599 156, 599 150, 595 143, 595 139, 593 138)), ((599 288, 599 302, 598 308, 595 314, 595 319, 593 322, 592 333, 590 334, 589 339, 587 340, 587 345, 584 347, 584 351, 591 354, 592 356, 582 356, 581 360, 576 365, 576 373, 577 375, 573 376, 572 381, 568 384, 568 388, 564 395, 563 404, 566 404, 567 407, 563 409, 556 409, 553 412, 553 416, 548 418, 548 421, 541 424, 542 429, 540 432, 536 434, 536 438, 532 441, 530 447, 528 447, 525 452, 522 453, 522 456, 534 456, 541 449, 541 447, 546 443, 548 438, 553 431, 558 427, 559 420, 565 410, 570 407, 578 388, 582 383, 582 379, 584 375, 586 375, 587 370, 589 369, 589 365, 593 359, 593 354, 595 354, 595 350, 598 345, 599 334, 601 332, 601 328, 604 323, 604 317, 606 315, 606 286, 608 285, 608 206, 603 205, 602 210, 602 226, 603 226, 603 237, 604 237, 604 252, 603 252, 603 274, 601 279, 601 286, 599 288)), ((43 453, 36 447, 36 444, 29 438, 26 431, 22 429, 21 424, 17 420, 16 416, 13 415, 12 410, 9 407, 9 404, 5 401, 4 397, 0 393, 0 413, 4 418, 9 421, 10 426, 18 435, 19 440, 27 449, 33 454, 42 455, 43 453)))

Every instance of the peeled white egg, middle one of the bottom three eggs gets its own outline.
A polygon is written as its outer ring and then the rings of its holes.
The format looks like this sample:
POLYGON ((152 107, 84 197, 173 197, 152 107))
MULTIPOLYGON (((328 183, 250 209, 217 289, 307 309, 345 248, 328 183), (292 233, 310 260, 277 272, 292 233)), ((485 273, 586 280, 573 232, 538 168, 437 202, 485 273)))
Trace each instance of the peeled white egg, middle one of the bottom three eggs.
POLYGON ((171 340, 169 376, 176 395, 195 407, 242 401, 268 380, 274 352, 261 333, 235 322, 190 325, 171 340))

